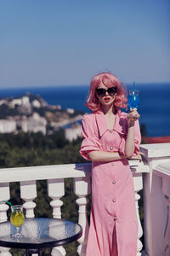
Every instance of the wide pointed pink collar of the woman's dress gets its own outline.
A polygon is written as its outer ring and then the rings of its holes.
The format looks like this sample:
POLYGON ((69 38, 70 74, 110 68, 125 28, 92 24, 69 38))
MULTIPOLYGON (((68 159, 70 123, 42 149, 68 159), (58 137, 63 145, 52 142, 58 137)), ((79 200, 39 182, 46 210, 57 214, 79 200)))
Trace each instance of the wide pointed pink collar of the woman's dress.
MULTIPOLYGON (((109 128, 105 121, 105 115, 104 113, 95 113, 96 122, 99 129, 99 136, 102 137, 105 131, 108 131, 109 128)), ((116 119, 115 124, 113 126, 113 130, 117 131, 120 134, 127 134, 127 125, 125 122, 125 113, 123 114, 121 111, 117 111, 116 113, 116 119)))

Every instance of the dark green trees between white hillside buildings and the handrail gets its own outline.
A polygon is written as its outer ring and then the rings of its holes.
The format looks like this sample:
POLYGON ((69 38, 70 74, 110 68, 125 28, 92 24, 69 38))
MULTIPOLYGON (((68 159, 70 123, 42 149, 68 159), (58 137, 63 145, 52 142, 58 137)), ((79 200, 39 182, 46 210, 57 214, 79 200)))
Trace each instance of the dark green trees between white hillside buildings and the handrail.
POLYGON ((41 133, 1 134, 0 167, 42 166, 82 162, 81 140, 69 143, 64 131, 42 136, 41 133))

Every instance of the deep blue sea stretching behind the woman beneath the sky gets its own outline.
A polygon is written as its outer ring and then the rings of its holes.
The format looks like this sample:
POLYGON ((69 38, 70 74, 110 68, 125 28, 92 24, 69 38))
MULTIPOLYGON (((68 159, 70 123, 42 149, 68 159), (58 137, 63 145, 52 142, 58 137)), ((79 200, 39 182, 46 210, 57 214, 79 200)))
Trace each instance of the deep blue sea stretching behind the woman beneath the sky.
MULTIPOLYGON (((127 84, 127 90, 133 85, 127 84)), ((170 83, 136 84, 139 90, 140 125, 145 126, 148 137, 170 136, 170 83)), ((49 105, 73 108, 84 113, 90 110, 84 105, 88 96, 88 85, 63 85, 43 87, 17 87, 0 89, 0 98, 20 97, 30 92, 42 96, 49 105)))

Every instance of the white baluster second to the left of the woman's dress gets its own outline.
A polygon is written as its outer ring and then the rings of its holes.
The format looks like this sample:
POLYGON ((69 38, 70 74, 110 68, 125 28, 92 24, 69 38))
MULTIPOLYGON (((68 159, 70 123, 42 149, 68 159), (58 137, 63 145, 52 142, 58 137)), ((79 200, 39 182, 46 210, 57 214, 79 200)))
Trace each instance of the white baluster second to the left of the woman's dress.
MULTIPOLYGON (((60 207, 63 205, 63 201, 60 198, 65 195, 65 183, 63 178, 48 179, 48 196, 53 200, 50 202, 50 206, 53 207, 53 218, 61 218, 60 207)), ((64 247, 54 247, 52 256, 65 256, 64 247)))

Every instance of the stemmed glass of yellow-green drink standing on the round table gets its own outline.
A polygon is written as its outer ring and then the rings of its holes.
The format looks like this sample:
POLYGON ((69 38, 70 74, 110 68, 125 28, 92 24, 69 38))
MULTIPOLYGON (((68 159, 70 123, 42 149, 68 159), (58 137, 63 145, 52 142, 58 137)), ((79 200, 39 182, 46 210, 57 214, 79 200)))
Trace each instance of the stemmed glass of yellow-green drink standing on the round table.
POLYGON ((23 206, 16 205, 11 208, 11 216, 10 221, 16 227, 16 233, 14 233, 14 237, 20 238, 22 235, 20 234, 20 225, 24 223, 25 217, 23 213, 23 206))

